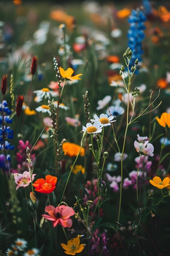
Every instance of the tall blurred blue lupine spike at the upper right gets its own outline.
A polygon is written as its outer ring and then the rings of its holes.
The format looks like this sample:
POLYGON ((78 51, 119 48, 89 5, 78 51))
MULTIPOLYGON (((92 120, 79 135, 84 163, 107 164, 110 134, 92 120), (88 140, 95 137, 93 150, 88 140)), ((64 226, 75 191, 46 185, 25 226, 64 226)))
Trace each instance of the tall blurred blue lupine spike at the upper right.
POLYGON ((137 58, 141 61, 141 54, 143 54, 142 40, 145 37, 144 21, 146 21, 146 16, 142 11, 132 10, 128 19, 128 22, 130 23, 130 29, 128 30, 128 47, 130 47, 133 52, 129 65, 130 69, 137 58))

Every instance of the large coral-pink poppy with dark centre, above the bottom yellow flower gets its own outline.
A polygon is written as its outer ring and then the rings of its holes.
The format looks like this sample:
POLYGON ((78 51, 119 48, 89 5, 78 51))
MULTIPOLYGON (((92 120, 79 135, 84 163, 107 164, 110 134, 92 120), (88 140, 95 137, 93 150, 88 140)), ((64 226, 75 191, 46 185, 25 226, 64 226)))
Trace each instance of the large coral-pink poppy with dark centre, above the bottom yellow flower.
POLYGON ((48 205, 45 211, 49 213, 49 215, 42 214, 42 216, 47 220, 53 221, 53 227, 56 227, 57 224, 62 225, 62 227, 72 226, 73 221, 70 216, 73 216, 75 211, 71 207, 60 205, 55 208, 53 205, 48 205))

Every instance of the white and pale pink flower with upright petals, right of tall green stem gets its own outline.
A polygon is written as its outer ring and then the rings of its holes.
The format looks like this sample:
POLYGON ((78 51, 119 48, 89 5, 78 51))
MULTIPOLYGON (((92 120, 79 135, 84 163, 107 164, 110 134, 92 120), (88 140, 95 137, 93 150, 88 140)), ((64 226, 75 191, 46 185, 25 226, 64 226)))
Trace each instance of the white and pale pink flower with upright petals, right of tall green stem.
POLYGON ((151 143, 148 143, 149 141, 145 141, 145 143, 139 143, 135 140, 134 146, 137 152, 141 155, 149 155, 153 156, 154 146, 151 143))

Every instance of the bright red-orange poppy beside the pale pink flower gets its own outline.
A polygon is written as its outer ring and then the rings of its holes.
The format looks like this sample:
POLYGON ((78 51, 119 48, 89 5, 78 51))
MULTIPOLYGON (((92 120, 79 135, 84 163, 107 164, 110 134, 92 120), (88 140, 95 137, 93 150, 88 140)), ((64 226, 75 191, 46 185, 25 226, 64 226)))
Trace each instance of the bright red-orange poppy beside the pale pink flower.
POLYGON ((46 175, 45 180, 44 179, 38 179, 33 183, 33 186, 35 187, 35 191, 38 191, 40 193, 49 194, 54 191, 56 188, 55 184, 57 182, 57 177, 46 175))

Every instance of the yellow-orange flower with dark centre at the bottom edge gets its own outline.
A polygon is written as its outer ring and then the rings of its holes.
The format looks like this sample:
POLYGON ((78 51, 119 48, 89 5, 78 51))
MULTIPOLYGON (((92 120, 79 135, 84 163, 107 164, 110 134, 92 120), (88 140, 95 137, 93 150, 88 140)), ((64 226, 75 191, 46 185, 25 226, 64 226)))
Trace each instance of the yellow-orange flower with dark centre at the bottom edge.
POLYGON ((65 254, 68 255, 75 255, 76 253, 82 252, 84 249, 84 244, 80 244, 80 238, 81 236, 77 236, 76 238, 73 238, 71 240, 68 240, 67 245, 66 244, 61 244, 63 247, 65 254))

